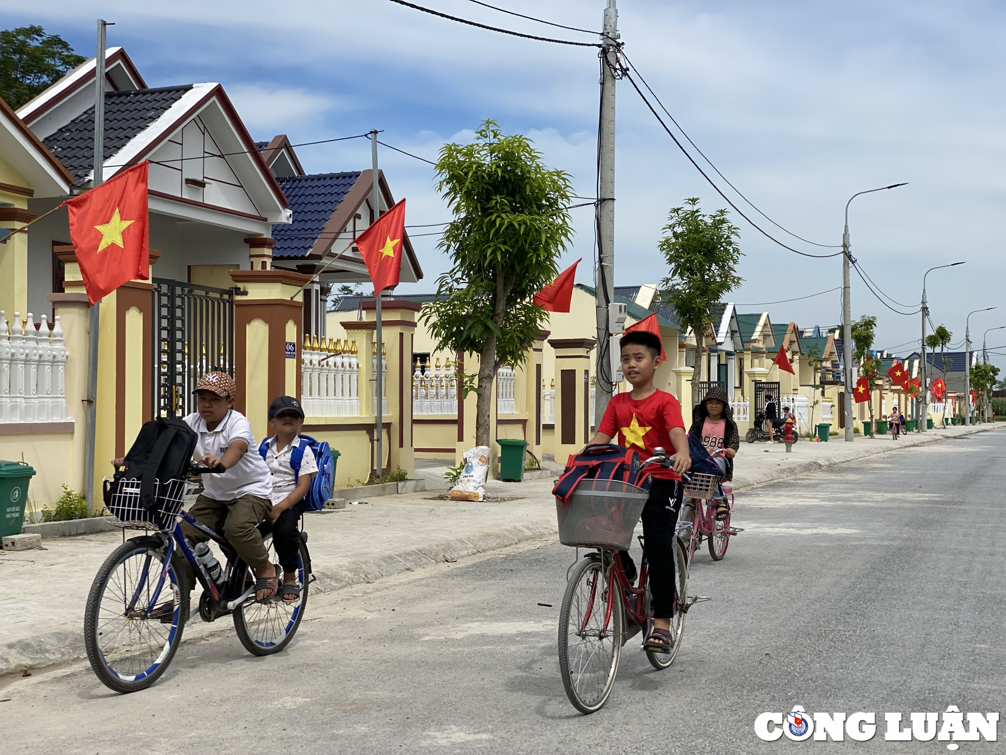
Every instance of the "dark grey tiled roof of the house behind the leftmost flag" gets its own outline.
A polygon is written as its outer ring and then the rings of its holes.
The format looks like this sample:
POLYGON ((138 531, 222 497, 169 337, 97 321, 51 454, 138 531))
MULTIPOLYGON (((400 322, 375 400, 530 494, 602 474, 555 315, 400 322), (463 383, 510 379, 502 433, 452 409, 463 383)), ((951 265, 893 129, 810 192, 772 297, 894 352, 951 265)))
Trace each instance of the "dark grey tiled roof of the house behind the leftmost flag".
MULTIPOLYGON (((192 85, 105 93, 105 160, 164 115, 192 85)), ((77 185, 94 167, 95 109, 90 108, 42 140, 77 185)))

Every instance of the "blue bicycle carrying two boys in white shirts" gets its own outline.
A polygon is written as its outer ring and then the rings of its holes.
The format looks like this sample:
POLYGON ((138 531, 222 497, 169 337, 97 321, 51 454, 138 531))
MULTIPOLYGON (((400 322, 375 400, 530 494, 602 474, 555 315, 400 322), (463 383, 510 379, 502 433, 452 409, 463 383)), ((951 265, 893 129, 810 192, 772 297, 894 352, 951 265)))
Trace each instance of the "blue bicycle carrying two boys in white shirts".
MULTIPOLYGON (((193 465, 190 474, 222 471, 223 467, 193 465)), ((156 483, 156 506, 151 510, 141 502, 139 480, 106 481, 111 493, 109 508, 124 527, 123 544, 105 560, 92 584, 83 616, 83 639, 91 667, 106 687, 116 692, 150 687, 174 657, 189 618, 190 587, 183 562, 192 567, 203 588, 199 598, 202 620, 231 615, 238 639, 254 655, 271 655, 286 647, 304 617, 308 585, 314 581, 310 577, 307 535, 301 533, 298 553, 300 597, 286 602, 277 593, 258 603, 252 569, 223 538, 182 510, 190 484, 187 479, 156 483), (217 581, 185 540, 182 520, 209 536, 226 557, 217 581), (126 540, 126 528, 144 530, 145 534, 126 540)), ((270 561, 282 574, 270 523, 263 522, 259 531, 270 561)))

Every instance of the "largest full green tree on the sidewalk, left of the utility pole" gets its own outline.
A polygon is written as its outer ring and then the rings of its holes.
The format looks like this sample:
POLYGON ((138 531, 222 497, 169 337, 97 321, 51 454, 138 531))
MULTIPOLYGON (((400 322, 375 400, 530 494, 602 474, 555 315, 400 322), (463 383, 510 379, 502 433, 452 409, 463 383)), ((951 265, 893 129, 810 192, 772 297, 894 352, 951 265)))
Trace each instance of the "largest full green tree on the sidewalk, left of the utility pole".
POLYGON ((440 248, 451 270, 423 321, 438 349, 478 353, 478 374, 459 365, 462 398, 478 393, 475 441, 490 441, 490 401, 502 364, 518 366, 545 323, 534 295, 558 274, 569 225, 569 176, 546 168, 531 141, 485 121, 472 144, 447 144, 438 189, 454 214, 440 248), (473 383, 476 385, 473 386, 473 383))

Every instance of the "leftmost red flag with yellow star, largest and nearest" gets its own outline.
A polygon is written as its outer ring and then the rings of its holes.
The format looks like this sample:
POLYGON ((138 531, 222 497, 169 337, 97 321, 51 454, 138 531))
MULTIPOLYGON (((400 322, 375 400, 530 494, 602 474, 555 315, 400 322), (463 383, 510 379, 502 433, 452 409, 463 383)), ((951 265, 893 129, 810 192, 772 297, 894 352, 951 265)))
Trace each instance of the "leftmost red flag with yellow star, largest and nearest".
POLYGON ((92 304, 127 281, 150 278, 147 163, 66 202, 69 238, 92 304))

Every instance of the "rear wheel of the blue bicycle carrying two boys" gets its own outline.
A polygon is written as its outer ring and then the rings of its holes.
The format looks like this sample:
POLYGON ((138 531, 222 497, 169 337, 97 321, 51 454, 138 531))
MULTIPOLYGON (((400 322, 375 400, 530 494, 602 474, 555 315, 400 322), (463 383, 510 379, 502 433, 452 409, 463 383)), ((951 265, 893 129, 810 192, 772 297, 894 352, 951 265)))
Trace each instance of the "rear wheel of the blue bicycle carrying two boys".
MULTIPOLYGON (((277 565, 280 575, 280 591, 265 603, 256 603, 255 598, 248 598, 234 609, 234 631, 244 645, 244 649, 253 655, 272 655, 279 652, 294 638, 297 627, 301 625, 304 609, 308 604, 308 570, 310 563, 307 544, 301 540, 297 553, 297 584, 301 588, 301 597, 293 603, 283 600, 283 571, 279 566, 279 557, 273 547, 273 536, 263 538, 269 560, 277 565)), ((245 580, 255 581, 255 574, 240 562, 245 570, 245 580)), ((247 584, 247 582, 245 582, 247 584)))

